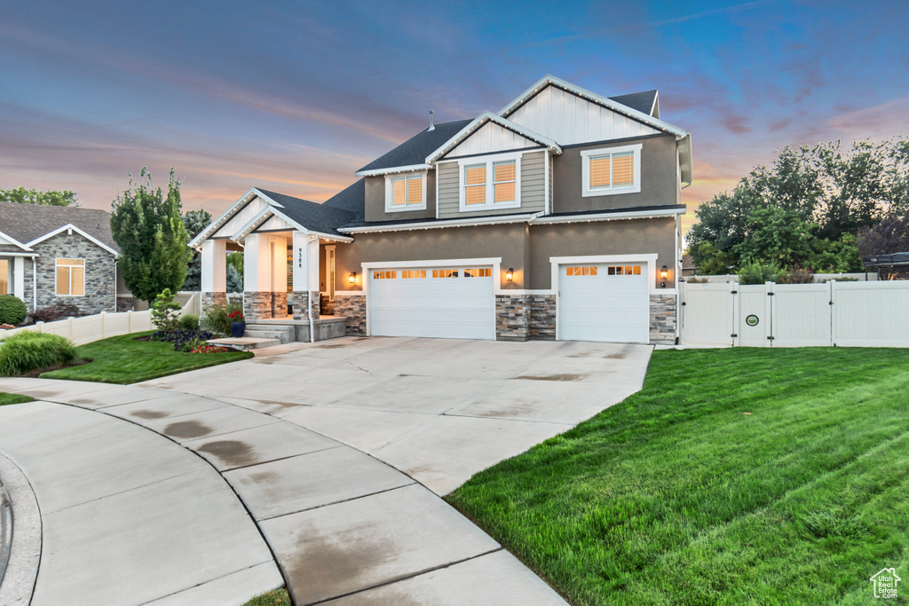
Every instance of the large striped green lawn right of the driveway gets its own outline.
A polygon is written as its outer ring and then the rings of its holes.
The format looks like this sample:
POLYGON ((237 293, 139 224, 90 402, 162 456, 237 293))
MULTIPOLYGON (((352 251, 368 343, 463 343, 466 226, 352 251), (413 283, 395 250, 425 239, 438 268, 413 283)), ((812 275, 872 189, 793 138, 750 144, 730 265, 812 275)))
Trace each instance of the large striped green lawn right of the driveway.
POLYGON ((574 604, 872 604, 909 578, 907 470, 905 350, 661 351, 449 501, 574 604))

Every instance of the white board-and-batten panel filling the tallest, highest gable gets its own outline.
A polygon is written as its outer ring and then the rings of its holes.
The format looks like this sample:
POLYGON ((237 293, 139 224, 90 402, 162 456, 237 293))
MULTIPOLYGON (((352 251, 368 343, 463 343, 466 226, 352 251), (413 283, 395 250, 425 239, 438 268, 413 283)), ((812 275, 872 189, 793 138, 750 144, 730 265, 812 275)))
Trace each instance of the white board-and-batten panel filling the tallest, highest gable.
POLYGON ((561 145, 583 144, 661 131, 550 84, 508 119, 561 145))

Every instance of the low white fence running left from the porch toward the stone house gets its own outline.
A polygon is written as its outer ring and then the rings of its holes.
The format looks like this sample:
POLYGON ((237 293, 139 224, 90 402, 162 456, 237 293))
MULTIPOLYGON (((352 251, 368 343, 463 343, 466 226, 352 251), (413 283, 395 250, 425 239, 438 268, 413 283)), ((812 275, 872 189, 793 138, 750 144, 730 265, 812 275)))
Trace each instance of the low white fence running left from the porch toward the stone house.
MULTIPOLYGON (((196 293, 183 306, 180 316, 182 317, 186 314, 198 315, 198 309, 199 295, 196 293)), ((59 334, 76 345, 85 345, 85 343, 92 343, 107 337, 142 333, 154 328, 155 325, 152 324, 152 313, 150 310, 120 313, 101 312, 81 318, 67 318, 56 322, 38 322, 31 326, 0 331, 0 341, 15 333, 35 331, 37 333, 59 334)))

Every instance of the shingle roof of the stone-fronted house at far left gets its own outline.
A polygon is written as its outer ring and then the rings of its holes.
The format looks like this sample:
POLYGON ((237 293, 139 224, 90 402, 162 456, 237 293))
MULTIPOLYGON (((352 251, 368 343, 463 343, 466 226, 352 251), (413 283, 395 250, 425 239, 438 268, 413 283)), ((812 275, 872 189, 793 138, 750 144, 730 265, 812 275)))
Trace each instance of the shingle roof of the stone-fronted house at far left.
POLYGON ((24 244, 66 224, 74 224, 95 240, 119 251, 111 233, 110 218, 110 213, 96 208, 0 202, 0 232, 24 244))

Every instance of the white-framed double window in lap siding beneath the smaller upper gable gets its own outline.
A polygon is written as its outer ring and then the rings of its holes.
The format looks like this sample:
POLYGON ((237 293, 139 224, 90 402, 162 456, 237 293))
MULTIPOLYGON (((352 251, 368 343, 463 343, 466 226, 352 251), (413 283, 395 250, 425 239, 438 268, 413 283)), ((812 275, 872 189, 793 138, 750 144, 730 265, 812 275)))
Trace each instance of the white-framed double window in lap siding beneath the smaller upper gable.
POLYGON ((461 212, 519 207, 521 155, 495 154, 458 160, 461 212))

